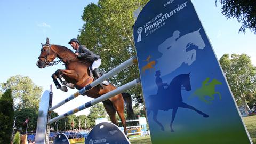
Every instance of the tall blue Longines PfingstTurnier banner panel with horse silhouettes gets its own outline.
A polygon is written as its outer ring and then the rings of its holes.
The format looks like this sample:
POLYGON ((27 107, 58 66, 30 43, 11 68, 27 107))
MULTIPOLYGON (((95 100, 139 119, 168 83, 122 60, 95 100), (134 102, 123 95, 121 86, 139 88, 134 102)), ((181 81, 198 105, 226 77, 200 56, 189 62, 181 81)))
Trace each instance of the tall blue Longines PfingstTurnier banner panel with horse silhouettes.
POLYGON ((153 143, 251 143, 191 1, 151 0, 133 34, 153 143))

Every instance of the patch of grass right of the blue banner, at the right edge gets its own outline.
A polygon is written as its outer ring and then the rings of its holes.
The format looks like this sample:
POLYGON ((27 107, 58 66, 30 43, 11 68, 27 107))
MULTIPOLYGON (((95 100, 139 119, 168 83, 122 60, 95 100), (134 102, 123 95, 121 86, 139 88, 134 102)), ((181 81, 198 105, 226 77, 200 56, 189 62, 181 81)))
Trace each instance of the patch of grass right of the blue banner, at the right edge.
POLYGON ((256 144, 256 115, 244 117, 244 123, 252 138, 252 142, 256 144))

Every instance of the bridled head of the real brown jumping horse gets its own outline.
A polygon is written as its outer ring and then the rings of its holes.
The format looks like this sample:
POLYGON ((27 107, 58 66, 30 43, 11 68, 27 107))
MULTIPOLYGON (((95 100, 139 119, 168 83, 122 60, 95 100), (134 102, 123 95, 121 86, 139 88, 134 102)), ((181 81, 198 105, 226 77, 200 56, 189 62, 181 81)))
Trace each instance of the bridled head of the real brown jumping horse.
MULTIPOLYGON (((41 43, 42 44, 42 43, 41 43)), ((46 43, 42 44, 41 53, 38 57, 36 65, 39 68, 45 68, 57 57, 57 54, 51 49, 49 38, 46 38, 46 43)))

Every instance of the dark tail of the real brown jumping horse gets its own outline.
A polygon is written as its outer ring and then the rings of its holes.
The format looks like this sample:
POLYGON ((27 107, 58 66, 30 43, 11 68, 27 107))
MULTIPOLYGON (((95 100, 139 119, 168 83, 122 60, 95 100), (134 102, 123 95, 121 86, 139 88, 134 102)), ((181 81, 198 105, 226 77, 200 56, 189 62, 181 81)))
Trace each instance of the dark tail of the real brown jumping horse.
POLYGON ((127 109, 127 119, 132 119, 135 116, 132 108, 132 96, 126 92, 122 93, 122 95, 127 109))

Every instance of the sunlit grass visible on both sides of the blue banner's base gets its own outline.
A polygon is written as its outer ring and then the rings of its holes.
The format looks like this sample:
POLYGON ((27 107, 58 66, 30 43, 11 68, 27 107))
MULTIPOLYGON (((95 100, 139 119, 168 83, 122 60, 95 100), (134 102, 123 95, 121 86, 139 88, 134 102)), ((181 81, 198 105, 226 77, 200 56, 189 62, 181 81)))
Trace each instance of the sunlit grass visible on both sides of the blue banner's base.
MULTIPOLYGON (((247 127, 247 130, 249 131, 249 134, 251 136, 252 142, 256 144, 256 115, 244 117, 243 119, 247 127)), ((151 139, 150 139, 150 135, 147 135, 145 137, 132 138, 130 139, 130 142, 131 144, 135 144, 135 143, 151 144, 151 139)))

